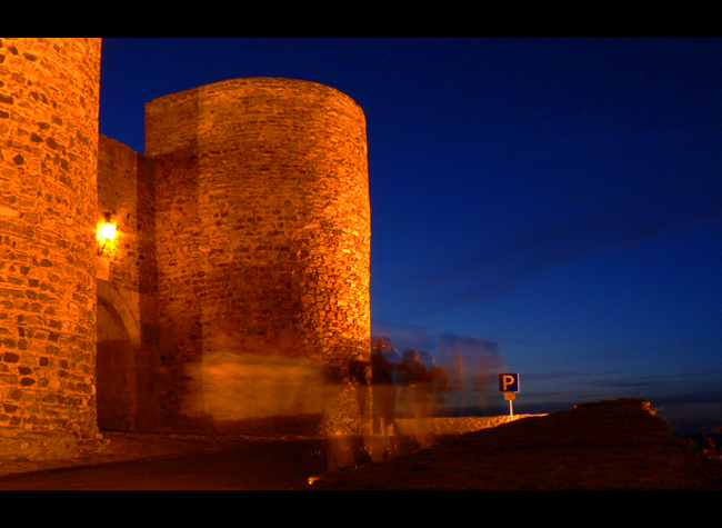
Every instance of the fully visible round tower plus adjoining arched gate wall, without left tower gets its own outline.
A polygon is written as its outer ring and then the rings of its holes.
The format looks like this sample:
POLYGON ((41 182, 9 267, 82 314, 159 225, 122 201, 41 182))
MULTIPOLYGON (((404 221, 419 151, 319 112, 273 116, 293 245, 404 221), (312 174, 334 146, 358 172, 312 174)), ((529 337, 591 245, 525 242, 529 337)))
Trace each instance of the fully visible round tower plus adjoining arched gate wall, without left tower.
POLYGON ((240 79, 151 101, 146 127, 144 155, 100 137, 99 217, 118 228, 98 276, 101 426, 285 417, 294 424, 271 424, 298 429, 321 414, 325 434, 358 430, 349 368, 370 338, 363 112, 320 84, 240 79))

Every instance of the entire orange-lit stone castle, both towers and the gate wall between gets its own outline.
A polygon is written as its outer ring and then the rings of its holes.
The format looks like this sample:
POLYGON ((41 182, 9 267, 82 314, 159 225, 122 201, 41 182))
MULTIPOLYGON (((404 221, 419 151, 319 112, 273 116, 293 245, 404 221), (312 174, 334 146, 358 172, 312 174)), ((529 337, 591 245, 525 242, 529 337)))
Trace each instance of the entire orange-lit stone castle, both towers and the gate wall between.
POLYGON ((101 430, 364 431, 361 108, 217 82, 150 101, 139 153, 98 133, 100 56, 0 39, 0 458, 101 430))

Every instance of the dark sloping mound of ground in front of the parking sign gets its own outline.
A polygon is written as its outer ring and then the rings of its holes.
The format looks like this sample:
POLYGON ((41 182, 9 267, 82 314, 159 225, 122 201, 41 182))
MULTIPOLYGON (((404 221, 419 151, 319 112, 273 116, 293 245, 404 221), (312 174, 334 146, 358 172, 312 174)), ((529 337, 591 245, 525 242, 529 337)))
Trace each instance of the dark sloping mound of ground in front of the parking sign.
POLYGON ((323 476, 319 490, 712 490, 703 462, 643 400, 579 405, 323 476))

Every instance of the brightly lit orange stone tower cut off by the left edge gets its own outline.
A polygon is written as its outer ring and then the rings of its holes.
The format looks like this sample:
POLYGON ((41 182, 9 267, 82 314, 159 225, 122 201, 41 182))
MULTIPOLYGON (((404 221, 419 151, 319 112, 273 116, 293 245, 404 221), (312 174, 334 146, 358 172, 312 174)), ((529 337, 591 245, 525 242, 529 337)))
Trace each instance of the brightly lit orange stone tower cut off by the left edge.
POLYGON ((97 435, 101 39, 0 39, 0 458, 97 435))

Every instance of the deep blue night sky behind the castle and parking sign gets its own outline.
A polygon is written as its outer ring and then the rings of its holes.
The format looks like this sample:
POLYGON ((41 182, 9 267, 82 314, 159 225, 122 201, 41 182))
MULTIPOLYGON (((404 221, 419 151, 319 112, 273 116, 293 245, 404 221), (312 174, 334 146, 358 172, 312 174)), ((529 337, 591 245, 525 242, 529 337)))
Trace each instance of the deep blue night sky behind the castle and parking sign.
POLYGON ((365 111, 374 333, 493 356, 518 412, 722 426, 721 39, 108 38, 100 130, 142 152, 146 102, 240 77, 365 111))

